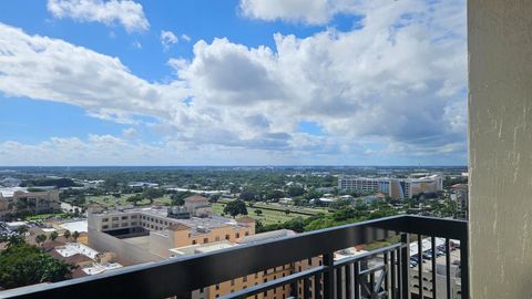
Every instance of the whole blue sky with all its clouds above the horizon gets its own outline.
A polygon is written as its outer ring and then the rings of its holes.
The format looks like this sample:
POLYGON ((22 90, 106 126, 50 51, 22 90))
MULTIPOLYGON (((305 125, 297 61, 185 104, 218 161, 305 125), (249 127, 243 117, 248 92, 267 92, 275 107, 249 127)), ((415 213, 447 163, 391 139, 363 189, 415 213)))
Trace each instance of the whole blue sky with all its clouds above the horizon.
POLYGON ((0 1, 0 165, 466 165, 466 0, 0 1))

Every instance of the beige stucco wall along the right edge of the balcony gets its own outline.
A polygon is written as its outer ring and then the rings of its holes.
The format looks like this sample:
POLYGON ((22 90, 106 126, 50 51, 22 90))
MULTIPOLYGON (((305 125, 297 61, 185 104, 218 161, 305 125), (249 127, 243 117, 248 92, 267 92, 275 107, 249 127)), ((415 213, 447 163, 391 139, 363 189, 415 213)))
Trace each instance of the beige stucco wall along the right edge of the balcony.
POLYGON ((474 299, 532 298, 532 1, 469 0, 474 299))

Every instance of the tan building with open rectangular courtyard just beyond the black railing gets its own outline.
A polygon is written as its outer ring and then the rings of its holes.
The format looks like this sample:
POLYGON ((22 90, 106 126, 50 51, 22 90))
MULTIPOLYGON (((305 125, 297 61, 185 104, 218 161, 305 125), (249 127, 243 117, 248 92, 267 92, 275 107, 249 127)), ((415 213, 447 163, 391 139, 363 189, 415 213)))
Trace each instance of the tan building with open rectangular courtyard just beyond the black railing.
POLYGON ((255 234, 255 220, 213 215, 202 196, 185 198, 184 207, 122 210, 88 209, 89 245, 117 254, 125 265, 172 256, 172 248, 227 240, 255 234))

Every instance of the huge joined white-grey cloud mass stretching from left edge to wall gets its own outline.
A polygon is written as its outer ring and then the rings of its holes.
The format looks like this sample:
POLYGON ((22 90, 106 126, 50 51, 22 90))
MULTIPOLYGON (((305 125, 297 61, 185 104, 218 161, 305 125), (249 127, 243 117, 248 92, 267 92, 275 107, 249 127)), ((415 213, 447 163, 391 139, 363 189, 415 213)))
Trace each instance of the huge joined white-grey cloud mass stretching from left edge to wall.
POLYGON ((0 25, 0 90, 122 123, 152 116, 150 128, 185 156, 232 148, 277 162, 464 161, 464 11, 461 0, 378 1, 360 9, 358 29, 275 34, 274 49, 198 41, 192 60, 168 61, 176 75, 168 83, 140 79, 116 58, 0 25), (324 135, 298 132, 301 121, 324 135))

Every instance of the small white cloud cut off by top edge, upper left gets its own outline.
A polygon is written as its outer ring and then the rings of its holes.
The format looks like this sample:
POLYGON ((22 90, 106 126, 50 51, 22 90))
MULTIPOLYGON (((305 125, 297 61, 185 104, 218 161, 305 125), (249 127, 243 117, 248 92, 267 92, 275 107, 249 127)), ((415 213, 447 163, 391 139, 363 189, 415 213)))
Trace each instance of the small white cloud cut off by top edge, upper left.
POLYGON ((140 3, 130 0, 48 0, 53 17, 80 22, 121 23, 127 32, 145 31, 150 23, 140 3))

